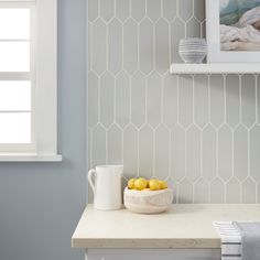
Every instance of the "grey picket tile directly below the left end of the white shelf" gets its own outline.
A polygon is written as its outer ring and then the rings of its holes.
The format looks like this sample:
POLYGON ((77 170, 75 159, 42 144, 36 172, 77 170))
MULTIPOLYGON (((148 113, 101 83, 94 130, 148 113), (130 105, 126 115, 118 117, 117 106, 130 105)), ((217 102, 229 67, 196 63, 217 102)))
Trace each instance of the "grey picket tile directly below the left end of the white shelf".
POLYGON ((173 127, 177 122, 177 76, 167 74, 163 78, 163 123, 173 127))

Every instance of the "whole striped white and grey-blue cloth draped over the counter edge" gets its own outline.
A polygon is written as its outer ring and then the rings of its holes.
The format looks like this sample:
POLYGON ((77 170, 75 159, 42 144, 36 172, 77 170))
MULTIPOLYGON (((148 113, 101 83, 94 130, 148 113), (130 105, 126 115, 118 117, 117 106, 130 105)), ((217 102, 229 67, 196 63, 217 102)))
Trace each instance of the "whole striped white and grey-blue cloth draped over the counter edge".
POLYGON ((221 237, 223 260, 260 260, 259 223, 214 223, 221 237))

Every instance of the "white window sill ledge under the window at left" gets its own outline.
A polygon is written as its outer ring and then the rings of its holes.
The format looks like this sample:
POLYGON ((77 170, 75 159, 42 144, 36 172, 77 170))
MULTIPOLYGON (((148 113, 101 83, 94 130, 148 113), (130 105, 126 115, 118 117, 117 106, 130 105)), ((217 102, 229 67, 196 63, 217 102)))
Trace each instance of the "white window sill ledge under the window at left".
POLYGON ((61 154, 0 153, 0 162, 62 162, 61 154))

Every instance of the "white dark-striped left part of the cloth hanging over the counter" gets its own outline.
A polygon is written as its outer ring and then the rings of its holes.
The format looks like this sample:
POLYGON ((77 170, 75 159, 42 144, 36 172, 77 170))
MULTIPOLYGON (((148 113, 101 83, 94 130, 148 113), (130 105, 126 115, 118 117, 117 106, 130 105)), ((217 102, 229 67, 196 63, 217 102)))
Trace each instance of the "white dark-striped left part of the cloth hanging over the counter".
POLYGON ((241 235, 231 221, 214 223, 221 238, 221 260, 241 260, 241 235))

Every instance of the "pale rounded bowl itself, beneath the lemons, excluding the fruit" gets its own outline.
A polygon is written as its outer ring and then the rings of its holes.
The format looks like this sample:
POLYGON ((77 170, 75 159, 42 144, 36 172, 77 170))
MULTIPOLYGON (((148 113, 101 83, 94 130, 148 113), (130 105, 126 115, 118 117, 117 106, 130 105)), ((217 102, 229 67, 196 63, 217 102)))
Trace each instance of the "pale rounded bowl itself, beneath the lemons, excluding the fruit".
POLYGON ((173 201, 171 188, 160 191, 134 191, 126 187, 123 201, 127 209, 133 213, 156 214, 170 208, 173 201))

